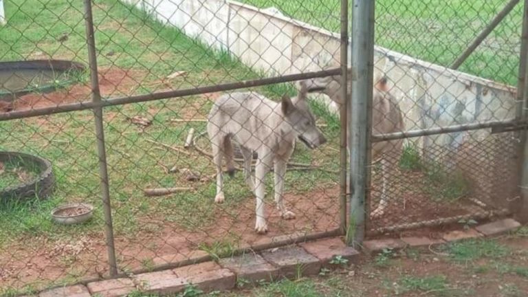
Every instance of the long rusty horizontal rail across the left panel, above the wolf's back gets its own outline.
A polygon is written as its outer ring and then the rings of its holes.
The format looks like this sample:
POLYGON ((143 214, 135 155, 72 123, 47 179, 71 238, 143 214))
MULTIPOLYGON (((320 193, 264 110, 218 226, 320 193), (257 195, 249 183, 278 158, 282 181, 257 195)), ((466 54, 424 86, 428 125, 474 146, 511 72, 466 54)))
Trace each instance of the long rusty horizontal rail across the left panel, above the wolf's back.
POLYGON ((126 96, 120 98, 106 99, 100 101, 90 102, 76 102, 70 104, 56 105, 52 107, 45 107, 41 109, 30 109, 24 111, 12 111, 8 113, 0 113, 0 122, 4 120, 14 120, 19 118, 31 118, 39 115, 51 115, 55 113, 65 113, 68 111, 83 111, 87 109, 94 109, 96 107, 110 107, 115 105, 139 103, 146 101, 153 101, 159 99, 179 98, 184 96, 191 96, 197 94, 206 94, 216 91, 230 91, 234 89, 244 89, 248 87, 260 87, 264 85, 273 85, 276 83, 287 83, 295 80, 305 80, 308 78, 318 78, 325 76, 340 75, 341 69, 321 70, 318 72, 307 72, 304 74, 289 74, 286 76, 277 76, 272 78, 259 78, 256 80, 242 80, 236 83, 225 83, 221 85, 212 85, 206 87, 196 87, 192 89, 180 89, 173 91, 163 91, 152 94, 126 96))

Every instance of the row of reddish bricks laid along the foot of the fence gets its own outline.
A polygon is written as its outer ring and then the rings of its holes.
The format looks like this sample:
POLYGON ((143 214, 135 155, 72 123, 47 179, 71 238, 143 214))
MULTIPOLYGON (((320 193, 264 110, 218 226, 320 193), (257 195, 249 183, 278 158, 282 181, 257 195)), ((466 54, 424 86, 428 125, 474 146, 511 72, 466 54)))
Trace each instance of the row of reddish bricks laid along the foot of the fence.
MULTIPOLYGON (((401 239, 375 239, 363 243, 364 252, 381 252, 385 249, 402 249, 439 245, 494 236, 511 232, 520 227, 514 219, 501 219, 466 230, 455 230, 442 234, 442 239, 427 237, 402 237, 401 239)), ((289 245, 282 248, 247 253, 218 263, 209 261, 172 270, 137 274, 130 278, 96 281, 87 285, 59 287, 38 294, 39 297, 119 297, 133 291, 146 294, 174 294, 182 292, 187 285, 195 285, 203 292, 226 291, 238 285, 279 278, 297 278, 318 274, 322 267, 336 268, 340 265, 358 263, 360 252, 344 244, 340 238, 321 239, 289 245), (340 257, 339 261, 332 261, 340 257), (344 260, 346 259, 346 261, 344 260)))

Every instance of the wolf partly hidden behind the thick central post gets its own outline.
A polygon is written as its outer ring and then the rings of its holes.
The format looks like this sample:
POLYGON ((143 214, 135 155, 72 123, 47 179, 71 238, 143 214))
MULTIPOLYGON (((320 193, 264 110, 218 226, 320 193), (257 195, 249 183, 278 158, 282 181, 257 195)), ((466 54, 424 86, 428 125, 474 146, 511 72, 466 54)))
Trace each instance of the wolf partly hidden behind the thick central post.
MULTIPOLYGON (((348 70, 347 97, 351 96, 351 78, 353 72, 348 70)), ((372 133, 385 134, 404 131, 404 120, 401 109, 396 98, 389 92, 387 78, 383 74, 377 73, 374 78, 373 102, 372 102, 372 133)), ((331 100, 342 105, 345 98, 342 98, 341 76, 326 76, 322 78, 311 78, 298 83, 304 85, 309 93, 320 92, 329 96, 331 100)), ((352 107, 353 108, 353 107, 352 107)), ((382 196, 377 208, 371 212, 371 217, 381 217, 388 205, 388 177, 391 175, 393 166, 386 158, 387 153, 401 154, 403 140, 389 140, 386 142, 375 142, 372 146, 372 160, 380 160, 382 168, 382 196)))

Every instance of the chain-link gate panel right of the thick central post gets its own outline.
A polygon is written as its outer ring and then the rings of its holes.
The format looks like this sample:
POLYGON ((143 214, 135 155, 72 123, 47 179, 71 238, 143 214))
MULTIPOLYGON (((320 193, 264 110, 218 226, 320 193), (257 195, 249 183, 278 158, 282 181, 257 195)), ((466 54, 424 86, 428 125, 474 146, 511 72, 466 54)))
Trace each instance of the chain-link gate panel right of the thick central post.
POLYGON ((367 236, 430 236, 520 210, 518 2, 376 1, 367 236))

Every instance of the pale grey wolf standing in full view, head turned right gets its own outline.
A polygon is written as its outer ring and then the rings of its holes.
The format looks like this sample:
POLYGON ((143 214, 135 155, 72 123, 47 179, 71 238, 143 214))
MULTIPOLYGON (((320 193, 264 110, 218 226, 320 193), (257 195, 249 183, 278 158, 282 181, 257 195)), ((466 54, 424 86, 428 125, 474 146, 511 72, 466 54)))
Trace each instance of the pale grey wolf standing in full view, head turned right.
POLYGON ((256 196, 257 233, 267 232, 264 214, 264 178, 274 169, 275 202, 283 219, 294 219, 283 201, 284 175, 287 162, 294 152, 296 139, 309 148, 327 142, 316 126, 316 120, 307 103, 307 88, 301 87, 297 97, 283 96, 274 102, 255 92, 226 94, 218 98, 208 115, 207 132, 212 144, 213 161, 217 168, 217 194, 214 201, 222 203, 222 158, 228 172, 234 172, 232 139, 240 144, 244 158, 245 181, 256 196), (258 159, 255 177, 251 174, 251 161, 256 151, 258 159))

